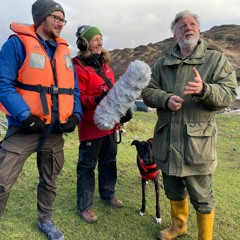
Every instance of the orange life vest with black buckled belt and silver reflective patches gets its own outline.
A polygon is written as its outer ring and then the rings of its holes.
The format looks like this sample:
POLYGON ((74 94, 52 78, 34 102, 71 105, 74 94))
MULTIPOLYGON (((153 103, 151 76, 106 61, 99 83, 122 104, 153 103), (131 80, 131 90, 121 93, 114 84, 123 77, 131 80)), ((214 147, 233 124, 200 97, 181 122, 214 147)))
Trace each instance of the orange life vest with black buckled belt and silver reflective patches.
POLYGON ((51 122, 53 110, 58 112, 59 121, 65 123, 74 105, 74 71, 67 42, 55 39, 57 48, 51 60, 33 25, 12 23, 10 28, 26 49, 26 58, 18 71, 17 91, 31 113, 46 124, 51 122))

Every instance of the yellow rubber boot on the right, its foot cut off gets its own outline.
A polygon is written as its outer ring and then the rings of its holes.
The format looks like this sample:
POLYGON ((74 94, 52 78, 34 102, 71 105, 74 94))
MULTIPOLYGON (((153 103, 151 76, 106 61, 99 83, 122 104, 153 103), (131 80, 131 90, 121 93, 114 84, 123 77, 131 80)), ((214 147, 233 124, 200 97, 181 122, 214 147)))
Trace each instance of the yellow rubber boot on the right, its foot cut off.
POLYGON ((210 214, 197 212, 198 240, 212 240, 214 210, 210 214))

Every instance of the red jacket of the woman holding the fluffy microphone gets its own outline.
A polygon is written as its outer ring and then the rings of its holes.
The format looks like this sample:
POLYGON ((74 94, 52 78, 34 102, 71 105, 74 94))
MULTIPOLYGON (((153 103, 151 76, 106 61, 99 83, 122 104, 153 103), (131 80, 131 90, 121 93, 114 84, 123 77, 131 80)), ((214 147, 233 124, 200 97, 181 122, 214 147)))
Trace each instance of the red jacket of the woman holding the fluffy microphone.
MULTIPOLYGON (((112 134, 114 129, 100 130, 93 120, 97 107, 95 97, 100 96, 103 89, 108 90, 109 87, 93 67, 84 65, 77 57, 73 58, 73 64, 78 75, 78 85, 81 91, 80 100, 83 108, 83 118, 78 125, 79 140, 83 142, 112 134)), ((112 84, 115 83, 113 71, 107 63, 102 64, 102 72, 112 84)))

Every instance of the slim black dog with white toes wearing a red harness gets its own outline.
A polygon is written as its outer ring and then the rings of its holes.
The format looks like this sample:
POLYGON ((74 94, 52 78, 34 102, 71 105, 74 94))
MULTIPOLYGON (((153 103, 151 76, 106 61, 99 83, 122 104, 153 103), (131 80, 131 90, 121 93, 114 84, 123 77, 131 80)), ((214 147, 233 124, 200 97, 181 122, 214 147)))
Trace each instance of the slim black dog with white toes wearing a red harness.
POLYGON ((137 150, 137 166, 141 174, 142 178, 142 207, 139 212, 141 216, 145 215, 146 209, 146 183, 148 180, 152 180, 155 185, 155 193, 156 193, 156 222, 161 223, 162 219, 160 216, 160 203, 159 203, 159 176, 161 170, 157 168, 157 165, 152 156, 152 141, 150 138, 147 141, 138 141, 134 140, 131 143, 131 146, 136 146, 137 150))

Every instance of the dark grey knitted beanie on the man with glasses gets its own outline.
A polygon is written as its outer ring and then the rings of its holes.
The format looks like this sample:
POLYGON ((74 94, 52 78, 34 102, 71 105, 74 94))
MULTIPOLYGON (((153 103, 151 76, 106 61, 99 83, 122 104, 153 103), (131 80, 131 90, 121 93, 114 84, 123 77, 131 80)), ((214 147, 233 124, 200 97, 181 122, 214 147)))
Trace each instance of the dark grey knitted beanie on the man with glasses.
POLYGON ((59 3, 53 0, 37 0, 32 5, 32 16, 34 26, 38 27, 41 22, 52 12, 61 11, 65 16, 64 10, 59 3))

